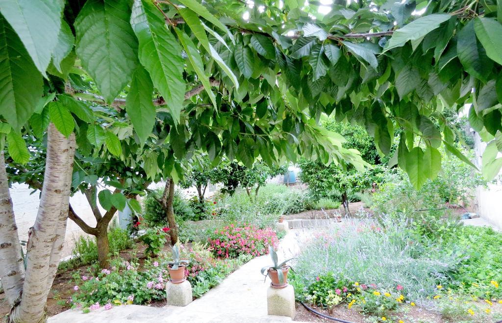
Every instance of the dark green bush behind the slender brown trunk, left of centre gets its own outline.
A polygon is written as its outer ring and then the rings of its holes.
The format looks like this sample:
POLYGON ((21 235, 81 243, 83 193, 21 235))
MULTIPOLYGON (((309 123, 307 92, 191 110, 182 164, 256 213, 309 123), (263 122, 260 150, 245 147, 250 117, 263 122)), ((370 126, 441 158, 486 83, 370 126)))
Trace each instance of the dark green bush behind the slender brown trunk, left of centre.
MULTIPOLYGON (((152 192, 143 202, 144 218, 150 227, 166 227, 168 226, 166 212, 156 199, 162 196, 164 190, 162 188, 152 192), (155 195, 156 196, 155 196, 155 195)), ((181 196, 181 192, 176 190, 173 197, 173 209, 176 223, 181 223, 187 220, 194 220, 195 214, 188 202, 181 196)))

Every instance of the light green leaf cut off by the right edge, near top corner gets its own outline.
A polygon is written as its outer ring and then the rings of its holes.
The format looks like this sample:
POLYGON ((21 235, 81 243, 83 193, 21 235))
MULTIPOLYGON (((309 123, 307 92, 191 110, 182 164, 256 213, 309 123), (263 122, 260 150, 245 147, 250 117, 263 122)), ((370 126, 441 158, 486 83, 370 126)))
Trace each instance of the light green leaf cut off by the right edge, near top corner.
POLYGON ((502 25, 494 19, 481 17, 474 20, 474 30, 486 55, 502 65, 502 25))

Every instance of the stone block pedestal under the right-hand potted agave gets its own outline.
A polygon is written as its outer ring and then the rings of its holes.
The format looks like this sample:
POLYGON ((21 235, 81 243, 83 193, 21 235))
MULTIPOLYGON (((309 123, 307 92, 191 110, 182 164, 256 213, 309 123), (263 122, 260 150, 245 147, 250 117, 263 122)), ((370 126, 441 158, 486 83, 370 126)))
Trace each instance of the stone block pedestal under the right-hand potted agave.
POLYGON ((295 289, 291 285, 284 288, 269 286, 267 290, 267 309, 269 315, 295 318, 295 289))

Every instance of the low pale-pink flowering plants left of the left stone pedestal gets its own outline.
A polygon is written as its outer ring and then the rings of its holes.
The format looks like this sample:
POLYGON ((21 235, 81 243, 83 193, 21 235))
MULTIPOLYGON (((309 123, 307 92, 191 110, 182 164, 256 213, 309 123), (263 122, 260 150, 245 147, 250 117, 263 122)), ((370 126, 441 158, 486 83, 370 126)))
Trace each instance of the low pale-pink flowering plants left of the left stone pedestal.
POLYGON ((100 305, 145 304, 165 299, 165 266, 147 260, 139 271, 137 262, 117 258, 110 263, 111 269, 103 269, 95 276, 74 274, 72 307, 92 310, 100 305))

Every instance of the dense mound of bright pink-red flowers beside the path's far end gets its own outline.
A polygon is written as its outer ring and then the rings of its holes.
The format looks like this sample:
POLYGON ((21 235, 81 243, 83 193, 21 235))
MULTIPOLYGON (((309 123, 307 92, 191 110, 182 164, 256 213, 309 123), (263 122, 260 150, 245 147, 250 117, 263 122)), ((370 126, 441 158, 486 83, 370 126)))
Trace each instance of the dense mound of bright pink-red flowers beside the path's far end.
POLYGON ((269 252, 269 245, 276 248, 277 243, 276 233, 271 228, 258 229, 249 225, 225 226, 216 229, 209 237, 213 254, 225 258, 235 258, 242 254, 255 257, 265 255, 269 252))

